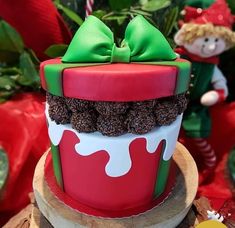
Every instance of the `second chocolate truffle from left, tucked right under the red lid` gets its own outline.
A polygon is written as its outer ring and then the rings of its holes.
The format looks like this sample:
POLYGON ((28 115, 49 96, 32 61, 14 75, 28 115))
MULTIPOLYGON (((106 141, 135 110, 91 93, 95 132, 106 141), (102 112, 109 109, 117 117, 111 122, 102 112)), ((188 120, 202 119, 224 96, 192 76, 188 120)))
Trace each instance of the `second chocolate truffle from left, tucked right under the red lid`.
POLYGON ((65 99, 67 106, 72 112, 84 112, 91 108, 92 101, 80 100, 75 98, 65 99))

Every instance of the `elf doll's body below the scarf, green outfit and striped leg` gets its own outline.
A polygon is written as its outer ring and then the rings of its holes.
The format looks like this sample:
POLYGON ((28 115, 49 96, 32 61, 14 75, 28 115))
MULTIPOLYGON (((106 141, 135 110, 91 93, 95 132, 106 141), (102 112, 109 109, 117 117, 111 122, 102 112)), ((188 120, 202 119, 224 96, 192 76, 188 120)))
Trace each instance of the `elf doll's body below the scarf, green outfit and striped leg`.
MULTIPOLYGON (((219 88, 226 88, 226 81, 223 77, 215 80, 214 73, 218 68, 214 63, 193 62, 192 61, 192 77, 190 89, 188 91, 189 105, 184 113, 182 126, 186 136, 189 137, 192 145, 201 154, 203 163, 207 168, 213 168, 216 165, 216 153, 207 138, 211 133, 211 117, 209 107, 200 103, 200 98, 211 88, 219 91, 220 98, 218 102, 225 99, 227 90, 221 93, 219 88), (214 82, 215 81, 215 82, 214 82)), ((218 74, 216 74, 218 75, 218 74)))

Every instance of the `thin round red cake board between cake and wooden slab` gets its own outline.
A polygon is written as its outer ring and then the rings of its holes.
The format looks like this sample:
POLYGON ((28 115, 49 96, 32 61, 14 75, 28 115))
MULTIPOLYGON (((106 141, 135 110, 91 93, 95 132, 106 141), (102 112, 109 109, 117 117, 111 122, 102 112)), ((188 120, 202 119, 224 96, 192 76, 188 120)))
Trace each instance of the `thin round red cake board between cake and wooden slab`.
MULTIPOLYGON (((147 204, 145 203, 136 207, 130 204, 132 207, 122 208, 121 210, 120 208, 116 210, 111 210, 111 209, 97 208, 95 206, 89 206, 88 204, 82 203, 81 201, 74 199, 72 196, 64 192, 62 188, 59 187, 56 178, 54 176, 51 151, 49 151, 48 155, 46 156, 46 161, 44 166, 45 182, 49 187, 50 191, 53 192, 53 194, 55 195, 56 198, 59 199, 59 201, 63 202, 65 205, 67 205, 70 208, 73 208, 78 212, 100 218, 131 217, 149 211, 152 208, 156 207, 157 205, 161 204, 171 194, 173 187, 175 186, 176 164, 174 161, 171 162, 170 173, 171 175, 169 175, 168 177, 164 192, 161 195, 159 195, 156 199, 152 200, 147 204)), ((140 183, 142 182, 140 181, 140 183)), ((131 188, 131 186, 128 187, 131 188)), ((140 187, 142 187, 142 185, 140 185, 140 187)), ((140 189, 140 191, 141 190, 142 189, 140 189)), ((116 197, 119 198, 118 195, 116 197)), ((99 198, 102 199, 102 196, 99 196, 99 198)), ((110 201, 111 200, 115 199, 110 199, 110 201)))

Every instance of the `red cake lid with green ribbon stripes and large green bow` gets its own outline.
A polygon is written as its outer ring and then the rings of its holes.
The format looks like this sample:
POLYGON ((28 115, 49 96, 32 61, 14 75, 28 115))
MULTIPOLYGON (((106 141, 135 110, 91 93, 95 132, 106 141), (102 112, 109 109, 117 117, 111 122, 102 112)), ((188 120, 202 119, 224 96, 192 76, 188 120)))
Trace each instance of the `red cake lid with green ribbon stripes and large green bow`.
POLYGON ((41 64, 40 76, 43 88, 53 95, 133 101, 185 92, 190 66, 177 59, 162 33, 142 16, 128 24, 121 47, 102 21, 89 16, 62 59, 41 64))

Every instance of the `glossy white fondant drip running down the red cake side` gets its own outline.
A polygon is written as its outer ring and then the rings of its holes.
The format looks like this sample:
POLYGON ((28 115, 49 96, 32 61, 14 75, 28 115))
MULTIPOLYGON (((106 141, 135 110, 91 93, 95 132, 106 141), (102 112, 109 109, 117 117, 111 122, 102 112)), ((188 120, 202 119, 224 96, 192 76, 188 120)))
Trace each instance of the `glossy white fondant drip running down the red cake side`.
POLYGON ((169 160, 174 152, 182 120, 182 115, 180 115, 171 125, 155 128, 143 135, 127 133, 118 137, 108 137, 103 136, 99 132, 79 133, 72 128, 71 124, 57 125, 48 115, 48 106, 46 106, 46 117, 49 137, 55 146, 59 145, 64 131, 68 130, 74 132, 80 140, 75 145, 75 150, 78 154, 88 156, 100 150, 105 150, 109 155, 105 171, 111 177, 123 176, 131 169, 129 146, 135 139, 144 138, 146 140, 146 149, 149 153, 154 153, 159 143, 165 140, 163 160, 169 160))

